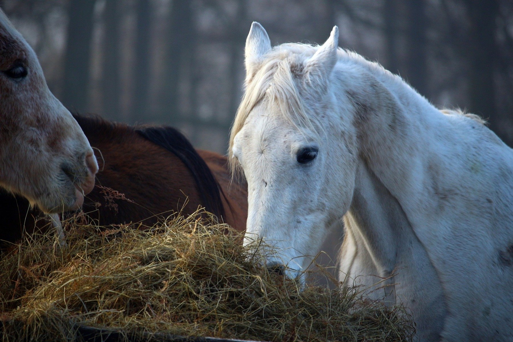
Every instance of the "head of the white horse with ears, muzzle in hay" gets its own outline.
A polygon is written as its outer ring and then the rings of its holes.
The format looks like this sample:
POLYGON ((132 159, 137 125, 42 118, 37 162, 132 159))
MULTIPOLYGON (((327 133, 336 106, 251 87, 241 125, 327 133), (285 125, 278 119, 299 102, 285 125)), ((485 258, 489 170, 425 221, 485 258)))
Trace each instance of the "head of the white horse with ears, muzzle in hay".
POLYGON ((271 48, 258 23, 246 41, 246 92, 229 155, 248 182, 246 238, 283 249, 270 266, 304 270, 311 258, 301 256, 317 253, 351 202, 358 152, 352 115, 341 119, 331 90, 338 50, 337 27, 320 47, 271 48))

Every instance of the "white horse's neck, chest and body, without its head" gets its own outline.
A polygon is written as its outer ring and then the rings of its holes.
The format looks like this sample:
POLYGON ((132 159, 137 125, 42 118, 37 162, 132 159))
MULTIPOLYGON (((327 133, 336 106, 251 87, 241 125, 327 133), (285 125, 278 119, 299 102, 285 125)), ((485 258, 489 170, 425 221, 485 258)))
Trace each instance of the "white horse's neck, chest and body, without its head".
POLYGON ((341 120, 354 113, 359 169, 341 270, 366 286, 378 282, 374 275, 397 274, 385 295, 405 298, 421 340, 440 340, 442 330, 447 340, 494 339, 509 319, 496 298, 511 297, 503 286, 513 258, 511 149, 476 120, 440 112, 400 78, 347 59, 332 90, 341 120), (469 318, 487 307, 491 314, 469 318))

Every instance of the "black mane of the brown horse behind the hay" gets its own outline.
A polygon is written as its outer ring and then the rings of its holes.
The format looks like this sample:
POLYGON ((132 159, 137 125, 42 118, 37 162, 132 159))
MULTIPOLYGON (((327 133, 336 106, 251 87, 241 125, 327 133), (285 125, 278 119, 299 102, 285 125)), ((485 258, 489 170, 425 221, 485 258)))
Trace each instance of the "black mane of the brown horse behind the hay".
MULTIPOLYGON (((82 115, 73 113, 73 117, 86 134, 98 136, 109 141, 125 137, 122 131, 131 131, 139 134, 153 144, 160 146, 178 157, 192 174, 198 193, 205 206, 205 210, 218 216, 225 216, 221 202, 221 188, 215 180, 205 160, 192 147, 189 140, 178 130, 169 126, 128 126, 122 123, 109 122, 98 115, 82 115)), ((98 160, 100 169, 102 161, 98 160)))

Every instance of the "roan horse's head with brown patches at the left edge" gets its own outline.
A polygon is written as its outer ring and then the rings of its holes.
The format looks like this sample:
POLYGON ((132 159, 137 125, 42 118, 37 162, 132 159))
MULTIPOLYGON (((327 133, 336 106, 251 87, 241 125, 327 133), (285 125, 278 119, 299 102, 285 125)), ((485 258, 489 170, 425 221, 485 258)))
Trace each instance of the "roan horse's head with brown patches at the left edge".
POLYGON ((82 129, 0 10, 0 186, 55 213, 82 205, 97 170, 82 129))

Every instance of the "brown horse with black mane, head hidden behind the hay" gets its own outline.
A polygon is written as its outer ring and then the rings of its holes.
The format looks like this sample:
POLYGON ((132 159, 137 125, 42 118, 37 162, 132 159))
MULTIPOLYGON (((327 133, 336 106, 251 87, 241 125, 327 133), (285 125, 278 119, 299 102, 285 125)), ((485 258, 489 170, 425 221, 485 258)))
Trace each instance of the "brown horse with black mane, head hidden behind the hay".
MULTIPOLYGON (((247 192, 231 183, 226 157, 196 151, 171 127, 132 127, 98 116, 74 115, 93 146, 100 165, 96 186, 83 211, 100 226, 139 222, 155 224, 172 212, 188 215, 199 206, 244 231, 247 192)), ((42 215, 22 197, 0 193, 0 240, 14 242, 22 228, 34 230, 42 215)))

